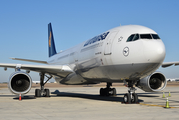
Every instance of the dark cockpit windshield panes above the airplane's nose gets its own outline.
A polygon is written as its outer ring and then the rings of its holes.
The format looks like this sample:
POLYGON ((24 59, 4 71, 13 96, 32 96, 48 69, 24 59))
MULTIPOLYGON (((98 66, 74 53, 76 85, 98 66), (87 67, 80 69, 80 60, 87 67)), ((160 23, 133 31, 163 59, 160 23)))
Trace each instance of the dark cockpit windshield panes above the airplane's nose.
POLYGON ((157 34, 132 34, 128 37, 127 42, 139 39, 160 39, 160 37, 157 34))

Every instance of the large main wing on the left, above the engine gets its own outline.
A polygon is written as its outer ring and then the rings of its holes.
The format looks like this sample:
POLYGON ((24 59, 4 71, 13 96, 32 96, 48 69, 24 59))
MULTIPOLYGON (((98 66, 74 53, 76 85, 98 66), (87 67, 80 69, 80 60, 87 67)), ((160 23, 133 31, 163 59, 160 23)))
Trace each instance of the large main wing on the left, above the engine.
POLYGON ((66 77, 70 73, 73 73, 73 70, 67 65, 30 65, 30 64, 0 63, 0 67, 4 67, 5 69, 15 68, 15 69, 29 70, 39 73, 56 75, 60 77, 66 77))

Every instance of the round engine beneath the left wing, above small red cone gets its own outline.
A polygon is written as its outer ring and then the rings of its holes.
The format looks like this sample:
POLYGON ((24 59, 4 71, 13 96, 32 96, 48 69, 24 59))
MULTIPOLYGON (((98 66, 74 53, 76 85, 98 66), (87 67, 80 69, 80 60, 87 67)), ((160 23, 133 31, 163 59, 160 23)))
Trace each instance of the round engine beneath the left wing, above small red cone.
POLYGON ((14 72, 9 78, 8 87, 14 94, 26 94, 30 91, 32 86, 31 77, 22 71, 14 72))

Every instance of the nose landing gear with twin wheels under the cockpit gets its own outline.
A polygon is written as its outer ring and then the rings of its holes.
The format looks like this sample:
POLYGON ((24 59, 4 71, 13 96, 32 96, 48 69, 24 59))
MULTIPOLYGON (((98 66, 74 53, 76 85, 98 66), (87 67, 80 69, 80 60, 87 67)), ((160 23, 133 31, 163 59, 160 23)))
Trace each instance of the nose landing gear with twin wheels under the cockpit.
POLYGON ((128 81, 128 93, 126 93, 124 95, 124 103, 138 103, 138 96, 135 93, 135 91, 137 89, 135 89, 135 87, 133 87, 133 85, 135 84, 134 81, 128 81))

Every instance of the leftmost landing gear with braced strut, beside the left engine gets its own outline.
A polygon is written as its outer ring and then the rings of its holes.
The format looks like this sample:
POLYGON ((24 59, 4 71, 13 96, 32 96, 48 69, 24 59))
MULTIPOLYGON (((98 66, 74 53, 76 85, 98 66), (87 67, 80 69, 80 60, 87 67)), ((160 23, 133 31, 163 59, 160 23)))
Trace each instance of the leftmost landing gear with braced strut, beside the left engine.
POLYGON ((40 88, 35 89, 35 97, 50 97, 50 90, 44 89, 44 85, 52 78, 52 76, 48 77, 45 73, 40 73, 40 88), (44 77, 47 77, 48 80, 44 82, 44 77))

